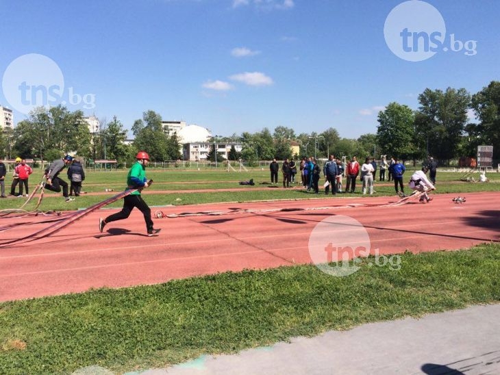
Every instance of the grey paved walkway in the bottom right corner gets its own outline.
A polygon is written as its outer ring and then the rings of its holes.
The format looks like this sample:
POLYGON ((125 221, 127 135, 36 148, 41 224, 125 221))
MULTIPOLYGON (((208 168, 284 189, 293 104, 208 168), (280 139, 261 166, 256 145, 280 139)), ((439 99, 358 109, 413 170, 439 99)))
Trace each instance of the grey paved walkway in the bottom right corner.
POLYGON ((140 374, 500 374, 500 305, 365 324, 140 374))

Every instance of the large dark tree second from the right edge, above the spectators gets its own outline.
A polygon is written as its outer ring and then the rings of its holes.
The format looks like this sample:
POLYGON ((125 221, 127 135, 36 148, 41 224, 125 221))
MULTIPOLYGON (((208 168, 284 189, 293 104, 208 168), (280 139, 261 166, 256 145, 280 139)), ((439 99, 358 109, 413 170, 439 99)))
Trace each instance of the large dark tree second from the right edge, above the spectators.
POLYGON ((425 142, 427 152, 438 159, 458 156, 471 95, 464 88, 447 88, 445 92, 427 88, 418 96, 418 102, 415 131, 421 145, 425 142))

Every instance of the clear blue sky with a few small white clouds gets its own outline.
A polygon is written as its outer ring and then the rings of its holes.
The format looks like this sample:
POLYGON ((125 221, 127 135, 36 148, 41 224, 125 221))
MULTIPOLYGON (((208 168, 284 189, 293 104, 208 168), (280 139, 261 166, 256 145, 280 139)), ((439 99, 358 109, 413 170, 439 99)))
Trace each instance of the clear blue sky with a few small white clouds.
MULTIPOLYGON (((377 112, 392 101, 416 109, 425 88, 475 93, 500 80, 499 1, 427 1, 448 36, 477 47, 420 62, 401 59, 384 39, 400 3, 1 1, 0 71, 21 55, 45 55, 66 92, 94 95, 94 108, 69 109, 116 115, 126 129, 152 109, 214 135, 283 125, 296 133, 334 127, 345 138, 375 133, 377 112)), ((4 90, 0 103, 12 108, 4 90)), ((23 118, 14 108, 14 122, 23 118)))

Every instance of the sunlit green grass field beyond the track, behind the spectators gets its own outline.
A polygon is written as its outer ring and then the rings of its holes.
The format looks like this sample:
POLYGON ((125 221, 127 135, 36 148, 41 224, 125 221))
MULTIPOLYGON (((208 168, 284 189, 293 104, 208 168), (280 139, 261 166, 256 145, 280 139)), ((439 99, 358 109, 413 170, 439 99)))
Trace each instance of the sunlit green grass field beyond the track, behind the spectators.
MULTIPOLYGON (((412 170, 407 171, 409 178, 412 170)), ((438 183, 436 194, 456 193, 464 195, 470 192, 491 192, 500 191, 500 174, 490 173, 490 183, 467 183, 460 181, 464 173, 461 172, 438 172, 438 183)), ((41 171, 36 170, 29 181, 33 186, 41 179, 41 171)), ((68 210, 85 208, 110 196, 105 189, 113 189, 114 192, 120 192, 125 188, 126 170, 86 173, 86 180, 83 183, 85 192, 101 192, 96 196, 82 195, 71 203, 64 203, 61 193, 53 193, 46 190, 44 200, 40 206, 41 210, 68 210)), ((226 172, 224 170, 147 170, 147 176, 155 182, 151 185, 151 190, 161 192, 177 192, 173 194, 154 194, 146 195, 145 200, 151 206, 164 205, 192 205, 199 203, 214 202, 245 202, 245 201, 267 201, 273 199, 308 199, 308 198, 329 198, 325 194, 312 194, 305 192, 301 188, 284 190, 280 187, 269 188, 269 185, 261 184, 269 181, 268 168, 258 168, 249 170, 249 172, 226 172), (238 181, 247 181, 253 179, 254 186, 238 185, 238 181), (203 192, 207 189, 228 189, 242 188, 242 192, 203 192), (260 188, 260 189, 258 189, 260 188), (262 191, 264 188, 264 191, 262 191), (186 193, 181 190, 197 190, 196 192, 186 193)), ((63 174, 63 179, 66 175, 63 174)), ((279 176, 281 179, 281 176, 279 176)), ((405 178, 408 179, 408 178, 405 178)), ((323 182, 323 179, 321 179, 323 182)), ((345 182, 345 180, 344 180, 345 182)), ((10 191, 10 180, 8 179, 7 192, 10 191)), ((299 185, 299 184, 298 184, 299 185)), ((33 187, 30 187, 31 189, 33 187)), ((281 185, 278 185, 281 186, 281 185)), ((357 192, 355 194, 342 194, 340 196, 360 196, 361 183, 358 182, 357 192)), ((375 182, 375 196, 394 196, 393 185, 382 186, 379 181, 375 182)), ((408 190, 408 188, 407 188, 408 190)), ((320 191, 324 191, 322 188, 320 191)), ((409 191, 409 190, 408 190, 409 191)), ((369 197, 366 197, 369 198, 369 197)), ((0 209, 14 209, 22 205, 21 198, 9 198, 0 200, 0 209)), ((26 209, 35 207, 36 199, 26 209)), ((110 207, 120 207, 121 202, 117 202, 110 207)))

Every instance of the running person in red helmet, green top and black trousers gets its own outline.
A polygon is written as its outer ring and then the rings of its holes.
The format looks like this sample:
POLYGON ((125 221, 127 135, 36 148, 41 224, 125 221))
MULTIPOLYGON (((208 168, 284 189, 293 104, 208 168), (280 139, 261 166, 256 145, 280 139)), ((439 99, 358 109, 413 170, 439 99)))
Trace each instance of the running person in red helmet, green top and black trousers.
POLYGON ((120 212, 112 214, 104 220, 102 218, 99 218, 99 231, 101 233, 103 232, 105 224, 108 224, 108 222, 128 218, 134 207, 137 207, 144 215, 147 235, 149 237, 159 233, 161 230, 153 228, 153 220, 151 220, 151 209, 140 196, 140 192, 142 191, 142 189, 148 188, 152 182, 151 180, 148 181, 145 173, 146 166, 149 163, 149 155, 147 155, 145 151, 139 151, 136 159, 136 163, 134 163, 132 168, 130 168, 129 174, 127 175, 127 190, 136 189, 136 191, 123 198, 123 209, 121 209, 120 212))

